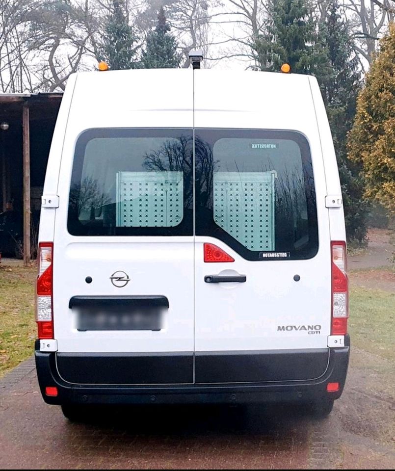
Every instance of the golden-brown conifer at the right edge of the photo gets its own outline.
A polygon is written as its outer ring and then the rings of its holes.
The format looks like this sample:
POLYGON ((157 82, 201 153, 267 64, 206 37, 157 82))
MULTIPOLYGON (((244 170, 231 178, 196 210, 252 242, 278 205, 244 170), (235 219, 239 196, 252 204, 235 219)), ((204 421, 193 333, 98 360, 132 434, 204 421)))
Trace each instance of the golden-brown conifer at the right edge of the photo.
POLYGON ((349 133, 349 158, 362 166, 365 196, 395 215, 395 24, 380 41, 349 133))

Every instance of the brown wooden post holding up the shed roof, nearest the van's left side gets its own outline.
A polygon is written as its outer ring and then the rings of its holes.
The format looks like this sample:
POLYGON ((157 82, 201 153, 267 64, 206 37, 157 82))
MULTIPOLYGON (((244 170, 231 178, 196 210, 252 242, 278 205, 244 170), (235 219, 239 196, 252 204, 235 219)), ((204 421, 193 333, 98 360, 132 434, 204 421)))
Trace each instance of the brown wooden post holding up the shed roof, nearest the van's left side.
POLYGON ((24 265, 30 263, 30 129, 29 107, 23 106, 24 265))

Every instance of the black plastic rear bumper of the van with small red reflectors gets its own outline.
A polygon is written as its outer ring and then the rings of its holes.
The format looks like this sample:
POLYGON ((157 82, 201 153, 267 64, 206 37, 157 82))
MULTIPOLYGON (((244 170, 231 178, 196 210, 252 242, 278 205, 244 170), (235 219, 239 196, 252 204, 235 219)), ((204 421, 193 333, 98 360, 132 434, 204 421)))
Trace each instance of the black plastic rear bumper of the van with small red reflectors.
MULTIPOLYGON (((36 349, 35 359, 40 390, 48 404, 191 404, 249 402, 309 402, 338 399, 343 391, 349 359, 349 337, 342 348, 331 348, 325 373, 315 380, 275 381, 248 384, 188 385, 85 385, 64 381, 56 368, 55 353, 36 349), (328 393, 328 383, 340 389, 328 393), (56 386, 58 395, 47 396, 45 388, 56 386)), ((314 355, 314 354, 313 354, 314 355)), ((311 359, 314 361, 314 358, 311 359)))

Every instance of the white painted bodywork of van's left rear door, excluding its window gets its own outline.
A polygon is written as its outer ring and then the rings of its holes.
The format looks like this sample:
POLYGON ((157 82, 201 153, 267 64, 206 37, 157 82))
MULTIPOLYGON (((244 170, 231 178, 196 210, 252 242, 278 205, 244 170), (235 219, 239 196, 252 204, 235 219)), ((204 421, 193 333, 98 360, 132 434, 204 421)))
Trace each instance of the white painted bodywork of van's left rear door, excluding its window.
MULTIPOLYGON (((155 74, 141 70, 132 73, 131 80, 129 71, 120 71, 115 73, 119 79, 115 86, 111 73, 108 74, 109 78, 105 73, 78 75, 57 188, 61 196, 55 222, 53 310, 59 354, 189 352, 192 358, 193 233, 171 237, 76 236, 70 234, 68 228, 68 196, 74 155, 77 142, 86 130, 182 128, 192 135, 192 71, 177 72, 180 71, 164 71, 163 79, 157 80, 155 74), (131 87, 150 92, 125 95, 125 89, 131 87), (126 286, 119 287, 112 283, 111 277, 115 275, 116 282, 120 271, 129 278, 126 286), (85 281, 86 277, 92 278, 90 284, 85 281), (132 295, 167 297, 169 308, 164 310, 160 330, 78 330, 79 312, 69 308, 73 296, 132 295)), ((100 150, 101 142, 107 146, 111 143, 111 138, 105 135, 101 136, 99 132, 96 139, 98 144, 94 143, 96 150, 92 152, 100 150)), ((122 139, 127 149, 125 137, 122 139)), ((117 139, 114 138, 114 152, 117 152, 118 147, 117 139)), ((97 156, 99 158, 99 154, 97 156)), ((92 162, 94 158, 95 155, 92 155, 92 162)), ((101 162, 99 167, 106 165, 103 158, 101 162)), ((100 172, 100 168, 92 171, 100 172)), ((111 179, 115 185, 115 173, 111 174, 111 179)), ((94 217, 97 218, 96 215, 94 217)), ((160 369, 160 365, 160 355, 153 357, 151 371, 146 369, 147 382, 156 382, 152 370, 160 369), (154 367, 155 362, 157 366, 154 367)), ((186 369, 179 372, 178 378, 183 379, 183 382, 188 378, 188 382, 192 382, 193 362, 188 360, 182 367, 186 369)), ((141 382, 140 377, 135 378, 141 382)))

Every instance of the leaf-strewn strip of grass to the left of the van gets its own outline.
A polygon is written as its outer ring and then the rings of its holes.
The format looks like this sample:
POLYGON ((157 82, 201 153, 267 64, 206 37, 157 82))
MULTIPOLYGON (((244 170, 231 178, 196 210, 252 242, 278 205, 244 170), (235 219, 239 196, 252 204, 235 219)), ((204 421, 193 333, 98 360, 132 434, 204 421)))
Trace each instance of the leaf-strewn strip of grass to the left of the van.
POLYGON ((34 266, 0 265, 0 377, 34 350, 34 266))

